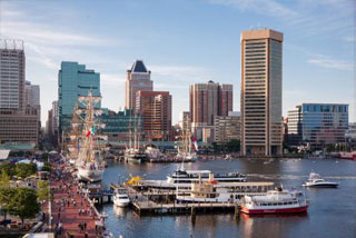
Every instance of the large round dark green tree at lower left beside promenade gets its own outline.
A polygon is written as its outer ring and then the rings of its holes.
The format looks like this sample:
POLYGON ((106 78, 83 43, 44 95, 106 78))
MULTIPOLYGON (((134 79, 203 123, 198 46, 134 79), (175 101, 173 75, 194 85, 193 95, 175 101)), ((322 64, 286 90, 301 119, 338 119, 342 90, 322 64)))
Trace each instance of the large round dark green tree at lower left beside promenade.
POLYGON ((11 215, 20 217, 22 227, 24 219, 34 218, 40 211, 40 205, 37 198, 36 190, 33 189, 14 189, 14 196, 9 202, 9 211, 11 215))

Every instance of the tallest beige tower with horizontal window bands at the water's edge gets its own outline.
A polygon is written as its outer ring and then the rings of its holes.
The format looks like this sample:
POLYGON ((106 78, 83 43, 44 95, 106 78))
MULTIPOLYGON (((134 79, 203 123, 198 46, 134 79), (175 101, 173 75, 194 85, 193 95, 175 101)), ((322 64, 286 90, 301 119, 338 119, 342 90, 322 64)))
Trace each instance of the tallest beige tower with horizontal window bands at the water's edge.
POLYGON ((241 33, 243 155, 281 156, 283 33, 249 30, 241 33))

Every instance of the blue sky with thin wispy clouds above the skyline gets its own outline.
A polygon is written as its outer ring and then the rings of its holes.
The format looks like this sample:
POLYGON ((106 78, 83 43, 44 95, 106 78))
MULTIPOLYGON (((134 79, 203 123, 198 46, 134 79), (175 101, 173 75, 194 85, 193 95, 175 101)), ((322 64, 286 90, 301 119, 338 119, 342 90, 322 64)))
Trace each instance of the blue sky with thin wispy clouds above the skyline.
POLYGON ((26 79, 40 85, 42 126, 58 98, 61 61, 100 72, 102 107, 123 108, 136 59, 155 90, 172 95, 172 119, 189 110, 189 85, 234 85, 240 110, 240 33, 284 33, 283 115, 303 102, 354 110, 353 0, 0 0, 0 38, 24 41, 26 79))

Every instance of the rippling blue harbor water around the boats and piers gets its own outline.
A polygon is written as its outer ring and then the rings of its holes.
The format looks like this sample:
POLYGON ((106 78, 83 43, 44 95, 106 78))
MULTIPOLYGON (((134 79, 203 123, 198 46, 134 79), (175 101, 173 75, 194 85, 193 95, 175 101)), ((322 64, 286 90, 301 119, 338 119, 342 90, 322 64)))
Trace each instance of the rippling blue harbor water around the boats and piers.
MULTIPOLYGON (((122 182, 129 175, 146 179, 166 179, 179 163, 109 162, 103 175, 103 185, 122 182)), ((356 161, 338 159, 276 159, 266 162, 260 159, 215 159, 186 163, 186 169, 209 169, 214 172, 239 171, 249 180, 274 181, 285 189, 303 189, 310 206, 307 214, 247 216, 234 214, 197 215, 192 221, 189 215, 142 216, 130 208, 105 205, 108 214, 107 228, 123 238, 217 238, 217 237, 356 237, 356 161), (303 188, 312 171, 338 188, 303 188)))

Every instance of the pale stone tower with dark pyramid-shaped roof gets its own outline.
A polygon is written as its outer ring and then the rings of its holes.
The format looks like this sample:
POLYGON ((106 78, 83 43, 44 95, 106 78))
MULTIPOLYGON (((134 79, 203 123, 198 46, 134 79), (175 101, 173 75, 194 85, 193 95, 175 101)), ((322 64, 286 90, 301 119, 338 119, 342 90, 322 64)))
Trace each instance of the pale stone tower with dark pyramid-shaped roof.
POLYGON ((152 91, 151 71, 148 71, 142 60, 136 60, 130 70, 127 70, 125 82, 125 108, 136 107, 136 93, 138 91, 152 91))

